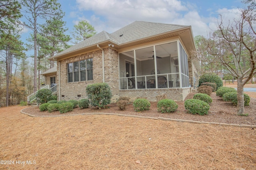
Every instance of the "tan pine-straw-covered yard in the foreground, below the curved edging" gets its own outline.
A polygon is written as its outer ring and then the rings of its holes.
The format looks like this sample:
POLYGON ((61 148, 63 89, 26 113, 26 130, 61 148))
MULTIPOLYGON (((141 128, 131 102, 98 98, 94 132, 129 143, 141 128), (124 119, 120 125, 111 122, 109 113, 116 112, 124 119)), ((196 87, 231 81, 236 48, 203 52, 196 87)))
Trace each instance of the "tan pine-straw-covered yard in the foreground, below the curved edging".
POLYGON ((255 129, 117 115, 29 117, 24 108, 0 108, 0 169, 256 169, 255 129))

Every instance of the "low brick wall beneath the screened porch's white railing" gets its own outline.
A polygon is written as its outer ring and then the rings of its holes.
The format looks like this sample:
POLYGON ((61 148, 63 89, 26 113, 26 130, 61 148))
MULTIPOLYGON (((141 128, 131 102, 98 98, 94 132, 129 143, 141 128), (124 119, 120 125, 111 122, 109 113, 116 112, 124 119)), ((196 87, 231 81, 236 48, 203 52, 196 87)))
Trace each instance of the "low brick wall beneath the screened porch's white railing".
POLYGON ((134 101, 138 97, 146 97, 149 101, 156 101, 156 96, 166 94, 168 99, 174 101, 184 101, 190 88, 172 88, 172 89, 129 89, 120 90, 120 97, 130 97, 134 101))

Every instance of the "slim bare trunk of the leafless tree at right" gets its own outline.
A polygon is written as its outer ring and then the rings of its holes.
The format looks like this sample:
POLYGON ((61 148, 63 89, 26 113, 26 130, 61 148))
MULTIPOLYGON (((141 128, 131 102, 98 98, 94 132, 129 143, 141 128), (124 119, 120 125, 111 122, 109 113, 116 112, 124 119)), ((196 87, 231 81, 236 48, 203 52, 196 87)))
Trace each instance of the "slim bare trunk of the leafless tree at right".
POLYGON ((244 114, 244 85, 242 79, 237 79, 237 114, 244 114))

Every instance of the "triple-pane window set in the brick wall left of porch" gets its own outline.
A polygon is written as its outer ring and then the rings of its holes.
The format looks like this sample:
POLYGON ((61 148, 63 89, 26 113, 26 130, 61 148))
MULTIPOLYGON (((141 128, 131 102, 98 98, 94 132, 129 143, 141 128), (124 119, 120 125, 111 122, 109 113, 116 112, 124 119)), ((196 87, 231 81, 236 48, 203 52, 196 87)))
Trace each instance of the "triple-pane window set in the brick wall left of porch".
POLYGON ((68 82, 88 81, 93 79, 92 58, 68 63, 68 82))

